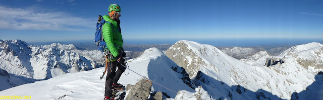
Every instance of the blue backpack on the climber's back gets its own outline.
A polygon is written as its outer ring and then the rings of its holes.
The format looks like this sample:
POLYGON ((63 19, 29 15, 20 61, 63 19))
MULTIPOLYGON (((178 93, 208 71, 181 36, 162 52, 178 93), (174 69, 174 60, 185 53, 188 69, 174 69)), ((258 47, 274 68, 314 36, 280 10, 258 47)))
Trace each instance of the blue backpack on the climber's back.
POLYGON ((106 47, 106 43, 103 40, 103 33, 102 33, 102 26, 104 25, 104 23, 111 24, 110 22, 105 21, 103 17, 99 15, 99 19, 97 20, 97 23, 96 23, 94 42, 97 49, 99 49, 100 51, 104 51, 104 48, 106 47))

